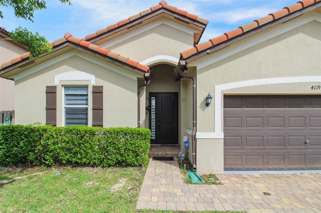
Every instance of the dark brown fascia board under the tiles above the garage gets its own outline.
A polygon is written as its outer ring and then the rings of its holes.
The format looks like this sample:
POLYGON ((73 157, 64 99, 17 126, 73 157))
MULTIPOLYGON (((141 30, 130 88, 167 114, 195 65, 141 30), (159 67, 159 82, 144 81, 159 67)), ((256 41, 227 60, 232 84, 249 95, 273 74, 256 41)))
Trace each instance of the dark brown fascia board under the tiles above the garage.
MULTIPOLYGON (((304 7, 302 9, 300 9, 298 11, 295 11, 295 12, 292 12, 292 13, 284 16, 284 17, 278 18, 278 19, 276 19, 276 20, 274 20, 272 22, 268 22, 268 23, 266 23, 266 24, 264 24, 262 26, 258 26, 256 28, 250 30, 250 31, 247 31, 245 33, 242 33, 242 34, 236 36, 236 37, 228 39, 228 40, 226 40, 226 41, 224 41, 222 43, 214 45, 214 46, 212 46, 212 47, 210 47, 208 49, 204 49, 203 51, 200 51, 200 52, 198 52, 198 53, 186 58, 185 60, 186 60, 187 63, 190 63, 190 62, 192 62, 194 60, 197 60, 197 59, 207 55, 208 54, 207 53, 208 50, 210 50, 210 52, 215 52, 215 51, 218 51, 219 49, 223 49, 223 48, 225 48, 225 47, 227 47, 227 46, 229 46, 231 44, 234 44, 234 43, 236 43, 236 42, 238 42, 240 40, 248 38, 248 37, 250 37, 252 35, 255 35, 255 34, 259 33, 259 32, 262 32, 262 31, 264 31, 266 29, 275 27, 278 24, 282 24, 282 23, 284 23, 286 21, 289 21, 291 19, 297 18, 297 17, 299 17, 300 15, 302 15, 304 13, 307 13, 309 11, 312 11, 312 10, 320 7, 320 5, 321 5, 321 1, 319 1, 319 2, 317 2, 315 4, 312 4, 310 6, 304 7)), ((318 12, 315 12, 315 13, 319 14, 318 12)), ((317 20, 317 18, 315 20, 317 20)))

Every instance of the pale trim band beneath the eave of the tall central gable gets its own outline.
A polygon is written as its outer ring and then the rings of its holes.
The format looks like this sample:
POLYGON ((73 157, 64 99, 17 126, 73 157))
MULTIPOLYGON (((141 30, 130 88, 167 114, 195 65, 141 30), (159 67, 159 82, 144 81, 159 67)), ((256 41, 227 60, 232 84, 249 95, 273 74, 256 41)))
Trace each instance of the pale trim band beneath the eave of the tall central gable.
POLYGON ((152 29, 152 28, 154 28, 154 27, 156 27, 158 25, 161 25, 161 24, 167 24, 167 25, 169 25, 171 27, 174 27, 176 29, 179 29, 179 30, 184 31, 184 32, 186 32, 188 34, 191 34, 191 35, 193 35, 195 32, 199 32, 199 31, 193 30, 192 28, 189 28, 187 26, 184 26, 184 25, 181 25, 179 23, 176 23, 176 22, 174 22, 172 20, 169 20, 169 19, 166 19, 166 18, 160 18, 160 19, 158 19, 156 21, 153 21, 151 23, 148 23, 148 24, 146 24, 146 25, 144 25, 142 27, 134 29, 134 30, 132 30, 132 31, 130 31, 128 33, 125 33, 125 34, 120 35, 120 36, 118 36, 116 38, 113 38, 113 39, 101 44, 100 46, 102 48, 109 48, 110 46, 113 46, 113 45, 115 45, 117 43, 120 43, 120 42, 122 42, 124 40, 127 40, 127 39, 129 39, 131 37, 134 37, 134 36, 144 32, 144 31, 152 29))

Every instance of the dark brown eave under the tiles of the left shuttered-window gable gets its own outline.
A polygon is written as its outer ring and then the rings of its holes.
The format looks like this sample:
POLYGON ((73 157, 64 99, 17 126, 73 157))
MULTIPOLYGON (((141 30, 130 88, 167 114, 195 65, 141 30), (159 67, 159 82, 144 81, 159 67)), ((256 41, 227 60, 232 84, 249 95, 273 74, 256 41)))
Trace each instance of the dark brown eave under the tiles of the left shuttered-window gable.
MULTIPOLYGON (((121 62, 121 61, 119 61, 119 60, 117 60, 117 59, 114 59, 114 58, 108 57, 108 56, 106 56, 106 55, 100 54, 100 53, 98 53, 97 51, 94 51, 94 50, 92 50, 92 49, 86 48, 86 47, 84 47, 84 46, 82 46, 82 45, 79 45, 79 44, 76 44, 76 43, 73 43, 73 42, 70 42, 70 41, 66 41, 66 42, 64 42, 64 43, 61 43, 61 44, 53 47, 53 51, 52 51, 52 52, 59 51, 59 50, 61 50, 61 49, 63 49, 63 48, 69 47, 69 46, 74 47, 74 48, 76 48, 76 49, 79 49, 79 50, 81 50, 81 51, 87 52, 87 53, 89 53, 89 54, 95 55, 95 56, 97 56, 97 57, 99 57, 99 58, 102 58, 102 59, 104 59, 104 60, 106 60, 106 61, 109 61, 109 62, 111 62, 111 63, 114 63, 114 64, 117 64, 117 65, 119 65, 119 66, 122 66, 122 67, 124 67, 124 68, 126 68, 126 69, 129 69, 129 70, 131 70, 131 71, 133 71, 133 72, 135 72, 135 73, 137 73, 137 74, 142 75, 142 76, 145 77, 145 73, 146 73, 146 72, 143 71, 143 70, 141 70, 141 69, 138 69, 138 68, 136 68, 136 67, 130 66, 129 64, 127 64, 127 63, 125 63, 125 62, 121 62)), ((50 52, 50 53, 52 53, 52 52, 50 52)), ((44 57, 44 56, 46 56, 46 55, 49 55, 50 53, 43 53, 43 54, 39 55, 39 58, 42 58, 42 57, 44 57)), ((10 72, 10 71, 12 71, 12 70, 14 70, 14 69, 16 69, 16 68, 19 68, 19 67, 26 67, 26 66, 28 66, 28 65, 31 65, 31 64, 34 63, 35 60, 37 60, 37 59, 38 59, 38 58, 36 58, 36 57, 33 57, 33 58, 25 58, 25 59, 23 59, 23 60, 21 60, 21 61, 19 61, 19 62, 17 62, 17 63, 14 63, 14 64, 12 64, 12 65, 10 65, 10 66, 4 67, 3 69, 0 70, 0 77, 4 77, 4 78, 11 79, 11 78, 9 78, 9 76, 8 76, 8 72, 10 72), (6 74, 6 73, 7 73, 7 74, 6 74)), ((147 75, 147 76, 148 76, 148 75, 147 75)))

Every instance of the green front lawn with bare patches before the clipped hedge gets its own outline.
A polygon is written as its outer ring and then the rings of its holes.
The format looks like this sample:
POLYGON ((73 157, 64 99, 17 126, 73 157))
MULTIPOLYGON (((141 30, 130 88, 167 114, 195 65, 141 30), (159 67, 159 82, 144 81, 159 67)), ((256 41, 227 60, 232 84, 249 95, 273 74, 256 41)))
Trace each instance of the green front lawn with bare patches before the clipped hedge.
POLYGON ((135 209, 145 168, 0 167, 0 181, 44 172, 0 185, 0 212, 179 212, 135 209))

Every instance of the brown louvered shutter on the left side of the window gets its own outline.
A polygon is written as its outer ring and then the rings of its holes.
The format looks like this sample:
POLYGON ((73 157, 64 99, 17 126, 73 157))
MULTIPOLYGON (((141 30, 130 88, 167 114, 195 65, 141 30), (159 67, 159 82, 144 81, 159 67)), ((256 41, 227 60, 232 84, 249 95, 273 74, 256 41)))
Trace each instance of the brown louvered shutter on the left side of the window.
POLYGON ((46 125, 57 125, 57 86, 46 86, 46 125))

